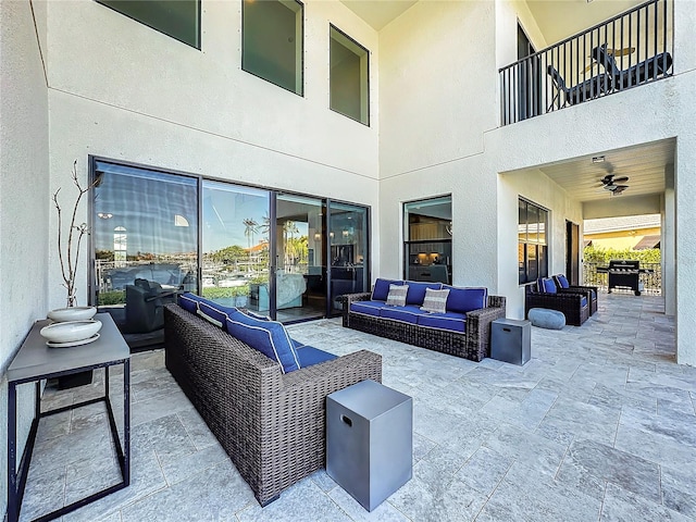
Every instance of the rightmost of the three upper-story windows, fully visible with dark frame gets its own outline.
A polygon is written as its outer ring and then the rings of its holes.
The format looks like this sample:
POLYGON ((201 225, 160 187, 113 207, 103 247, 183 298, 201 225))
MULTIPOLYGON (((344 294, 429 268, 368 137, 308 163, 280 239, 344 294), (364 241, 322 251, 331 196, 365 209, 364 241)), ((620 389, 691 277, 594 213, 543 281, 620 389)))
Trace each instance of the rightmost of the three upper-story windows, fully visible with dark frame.
POLYGON ((331 108, 370 125, 369 51, 331 26, 331 108))

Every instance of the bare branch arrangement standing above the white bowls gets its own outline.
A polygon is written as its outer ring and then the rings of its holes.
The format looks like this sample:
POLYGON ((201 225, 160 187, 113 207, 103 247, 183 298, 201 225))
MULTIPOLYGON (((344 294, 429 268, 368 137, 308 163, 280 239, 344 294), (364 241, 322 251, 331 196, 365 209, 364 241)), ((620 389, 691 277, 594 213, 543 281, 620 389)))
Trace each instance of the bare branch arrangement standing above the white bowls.
POLYGON ((91 190, 97 185, 95 179, 89 186, 83 187, 77 179, 77 160, 73 163, 73 184, 77 187, 77 199, 73 207, 73 215, 70 222, 70 233, 67 234, 67 248, 63 254, 63 224, 62 224, 62 209, 58 202, 58 194, 61 191, 59 188, 53 192, 53 203, 55 210, 58 210, 58 258, 61 263, 61 275, 63 276, 63 286, 67 289, 67 307, 77 306, 77 297, 75 296, 75 279, 77 275, 77 261, 79 259, 79 247, 83 241, 83 237, 89 234, 89 227, 87 223, 75 224, 77 219, 77 208, 83 196, 91 190))

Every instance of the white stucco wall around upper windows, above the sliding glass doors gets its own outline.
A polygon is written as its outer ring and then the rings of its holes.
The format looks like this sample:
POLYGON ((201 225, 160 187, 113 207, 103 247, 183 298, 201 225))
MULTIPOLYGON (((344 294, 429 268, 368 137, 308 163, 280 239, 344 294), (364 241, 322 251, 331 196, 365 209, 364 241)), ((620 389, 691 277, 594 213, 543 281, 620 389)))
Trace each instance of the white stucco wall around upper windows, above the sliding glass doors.
MULTIPOLYGON (((241 71, 240 5, 203 2, 199 51, 91 0, 51 2, 51 189, 75 159, 86 181, 96 154, 365 204, 378 222, 376 32, 340 2, 304 2, 300 97, 241 71), (330 23, 371 52, 371 126, 328 109, 330 23)), ((376 227, 372 240, 376 266, 376 227)), ((51 303, 63 294, 51 285, 51 303)))

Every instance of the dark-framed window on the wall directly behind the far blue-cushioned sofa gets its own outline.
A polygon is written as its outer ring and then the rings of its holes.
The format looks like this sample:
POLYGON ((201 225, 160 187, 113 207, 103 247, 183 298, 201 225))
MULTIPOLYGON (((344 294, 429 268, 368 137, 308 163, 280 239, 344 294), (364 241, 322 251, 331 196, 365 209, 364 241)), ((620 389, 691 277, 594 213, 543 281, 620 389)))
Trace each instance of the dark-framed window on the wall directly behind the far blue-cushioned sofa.
POLYGON ((452 198, 403 204, 403 276, 409 281, 452 281, 452 198))

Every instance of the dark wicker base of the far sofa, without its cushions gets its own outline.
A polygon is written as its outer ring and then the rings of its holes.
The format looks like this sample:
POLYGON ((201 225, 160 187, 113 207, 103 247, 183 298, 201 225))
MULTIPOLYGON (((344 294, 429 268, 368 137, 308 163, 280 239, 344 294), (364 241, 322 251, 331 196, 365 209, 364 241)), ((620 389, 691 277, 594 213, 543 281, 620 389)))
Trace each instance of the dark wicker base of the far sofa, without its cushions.
POLYGON ((488 308, 468 313, 467 332, 459 333, 350 312, 351 302, 368 300, 370 296, 370 294, 343 296, 345 327, 475 362, 490 357, 490 323, 496 319, 505 318, 506 313, 505 297, 488 296, 488 308))

